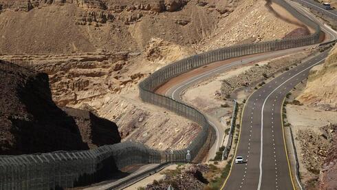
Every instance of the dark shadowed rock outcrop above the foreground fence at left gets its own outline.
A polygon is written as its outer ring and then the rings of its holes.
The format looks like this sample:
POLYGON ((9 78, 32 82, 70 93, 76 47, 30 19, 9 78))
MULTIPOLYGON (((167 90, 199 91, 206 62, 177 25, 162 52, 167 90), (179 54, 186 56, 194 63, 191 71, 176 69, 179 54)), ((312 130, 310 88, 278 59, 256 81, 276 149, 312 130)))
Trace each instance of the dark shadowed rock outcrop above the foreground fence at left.
POLYGON ((58 108, 45 73, 0 63, 0 88, 0 154, 78 150, 120 142, 111 121, 58 108))

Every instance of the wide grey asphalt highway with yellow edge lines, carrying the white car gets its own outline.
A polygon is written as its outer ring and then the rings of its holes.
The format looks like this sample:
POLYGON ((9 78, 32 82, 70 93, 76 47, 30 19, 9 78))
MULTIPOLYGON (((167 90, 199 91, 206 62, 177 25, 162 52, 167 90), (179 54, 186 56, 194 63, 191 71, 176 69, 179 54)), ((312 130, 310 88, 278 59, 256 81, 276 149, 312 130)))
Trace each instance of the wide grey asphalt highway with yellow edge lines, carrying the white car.
POLYGON ((233 165, 224 189, 293 189, 285 152, 281 107, 283 99, 309 70, 323 63, 327 52, 294 67, 248 98, 241 120, 236 156, 245 164, 233 165))

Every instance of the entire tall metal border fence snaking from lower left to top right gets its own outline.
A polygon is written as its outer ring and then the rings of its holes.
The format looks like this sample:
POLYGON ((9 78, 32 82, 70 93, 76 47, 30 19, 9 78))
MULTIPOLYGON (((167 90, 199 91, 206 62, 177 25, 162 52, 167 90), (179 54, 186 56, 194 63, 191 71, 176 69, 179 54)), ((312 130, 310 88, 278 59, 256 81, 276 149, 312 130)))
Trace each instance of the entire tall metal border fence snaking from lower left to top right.
POLYGON ((209 63, 238 56, 313 45, 320 41, 321 31, 318 24, 297 12, 284 0, 273 0, 273 2, 278 3, 310 28, 314 28, 316 32, 309 36, 233 45, 197 54, 162 67, 139 84, 140 98, 144 102, 169 109, 180 116, 193 120, 202 127, 202 131, 186 149, 173 152, 158 151, 140 143, 128 141, 87 151, 0 156, 0 190, 79 187, 110 178, 116 169, 128 165, 184 162, 187 150, 190 151, 191 160, 196 158, 203 147, 210 147, 215 142, 215 138, 213 138, 215 129, 210 127, 206 116, 197 109, 172 98, 155 94, 153 91, 171 78, 209 63))

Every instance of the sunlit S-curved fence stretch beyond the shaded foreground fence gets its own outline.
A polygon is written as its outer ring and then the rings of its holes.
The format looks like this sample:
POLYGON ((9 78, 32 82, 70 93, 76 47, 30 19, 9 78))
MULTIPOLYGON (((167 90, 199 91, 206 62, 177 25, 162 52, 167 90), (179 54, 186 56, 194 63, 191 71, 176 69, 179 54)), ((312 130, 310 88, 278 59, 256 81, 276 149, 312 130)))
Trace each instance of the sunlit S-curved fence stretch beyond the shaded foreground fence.
POLYGON ((140 83, 140 97, 143 101, 169 109, 172 112, 193 120, 202 126, 202 131, 198 134, 197 138, 193 140, 191 145, 187 147, 187 149, 189 149, 192 153, 191 158, 195 158, 196 154, 199 152, 199 149, 201 149, 202 145, 206 143, 209 131, 211 131, 212 134, 215 134, 215 129, 210 127, 206 117, 197 109, 184 103, 175 101, 172 98, 155 94, 153 91, 171 78, 174 78, 180 74, 184 74, 185 72, 191 71, 197 67, 208 65, 209 63, 224 61, 226 59, 231 59, 238 56, 312 45, 320 41, 320 26, 318 24, 297 12, 297 10, 292 8, 283 0, 274 0, 274 3, 278 3, 280 6, 283 6, 283 8, 287 9, 291 14, 294 15, 294 17, 303 21, 303 23, 308 25, 310 28, 314 28, 316 32, 309 36, 301 36, 293 39, 281 39, 275 41, 265 41, 261 43, 233 45, 231 47, 224 47, 218 50, 205 52, 203 54, 190 56, 186 59, 182 59, 167 65, 166 67, 162 67, 160 70, 157 70, 140 83))

